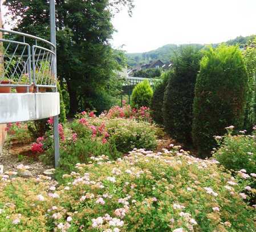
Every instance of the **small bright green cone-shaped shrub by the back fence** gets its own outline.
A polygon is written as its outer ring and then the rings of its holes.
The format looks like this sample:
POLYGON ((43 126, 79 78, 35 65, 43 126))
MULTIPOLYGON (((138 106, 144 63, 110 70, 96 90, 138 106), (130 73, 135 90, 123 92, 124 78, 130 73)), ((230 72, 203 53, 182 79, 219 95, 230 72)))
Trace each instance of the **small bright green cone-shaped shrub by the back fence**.
POLYGON ((132 91, 132 107, 149 107, 152 96, 153 90, 148 80, 140 82, 132 91))

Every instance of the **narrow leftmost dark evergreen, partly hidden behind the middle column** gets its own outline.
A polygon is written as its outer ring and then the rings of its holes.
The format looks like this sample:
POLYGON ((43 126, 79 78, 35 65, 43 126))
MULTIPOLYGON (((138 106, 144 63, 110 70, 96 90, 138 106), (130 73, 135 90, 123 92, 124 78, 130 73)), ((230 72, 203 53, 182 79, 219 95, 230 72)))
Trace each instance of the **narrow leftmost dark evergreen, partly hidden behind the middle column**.
POLYGON ((155 84, 151 101, 151 116, 153 120, 160 125, 164 123, 164 119, 162 117, 162 103, 164 101, 165 88, 171 73, 172 71, 169 71, 161 75, 161 79, 155 84))

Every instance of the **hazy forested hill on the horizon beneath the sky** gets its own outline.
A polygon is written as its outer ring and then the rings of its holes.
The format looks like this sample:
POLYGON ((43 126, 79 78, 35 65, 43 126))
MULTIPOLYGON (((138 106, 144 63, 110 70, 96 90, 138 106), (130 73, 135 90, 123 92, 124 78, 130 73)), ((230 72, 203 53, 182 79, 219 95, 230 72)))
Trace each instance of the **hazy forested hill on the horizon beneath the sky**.
MULTIPOLYGON (((235 44, 246 44, 249 40, 253 39, 255 35, 250 36, 238 36, 235 39, 231 39, 227 41, 226 43, 228 45, 235 45, 235 44)), ((196 46, 198 48, 202 48, 205 45, 204 44, 181 44, 180 46, 196 46)), ((214 47, 216 47, 218 44, 212 44, 214 47)), ((142 52, 142 53, 128 53, 127 54, 127 62, 129 66, 136 66, 137 64, 147 64, 151 60, 157 60, 160 59, 162 62, 168 62, 174 53, 178 50, 180 47, 176 44, 167 44, 165 46, 162 46, 160 48, 157 48, 156 50, 148 51, 148 52, 142 52)))

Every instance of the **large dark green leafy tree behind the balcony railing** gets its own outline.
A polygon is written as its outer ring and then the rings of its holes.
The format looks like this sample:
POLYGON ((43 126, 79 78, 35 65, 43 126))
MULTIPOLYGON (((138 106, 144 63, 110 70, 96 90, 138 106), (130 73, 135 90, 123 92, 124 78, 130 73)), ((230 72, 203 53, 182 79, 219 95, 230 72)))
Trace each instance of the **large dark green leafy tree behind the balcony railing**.
MULTIPOLYGON (((50 38, 49 1, 6 0, 15 30, 50 38)), ((131 14, 133 0, 56 0, 57 62, 60 82, 70 96, 70 114, 96 108, 92 101, 108 89, 109 79, 121 69, 119 54, 109 40, 111 19, 124 6, 131 14), (90 103, 90 104, 89 104, 90 103)))

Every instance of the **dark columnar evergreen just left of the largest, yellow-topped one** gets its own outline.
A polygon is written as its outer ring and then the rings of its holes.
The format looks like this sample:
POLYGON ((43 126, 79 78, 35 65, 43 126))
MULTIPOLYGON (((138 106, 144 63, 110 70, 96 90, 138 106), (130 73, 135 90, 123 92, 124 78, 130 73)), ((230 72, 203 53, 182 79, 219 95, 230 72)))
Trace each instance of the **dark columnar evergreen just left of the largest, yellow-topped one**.
POLYGON ((173 75, 164 95, 164 125, 178 141, 191 144, 194 86, 200 69, 201 52, 192 46, 181 48, 173 62, 173 75))

